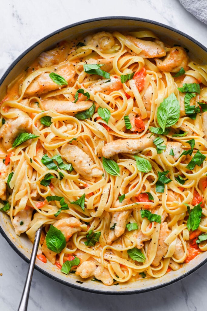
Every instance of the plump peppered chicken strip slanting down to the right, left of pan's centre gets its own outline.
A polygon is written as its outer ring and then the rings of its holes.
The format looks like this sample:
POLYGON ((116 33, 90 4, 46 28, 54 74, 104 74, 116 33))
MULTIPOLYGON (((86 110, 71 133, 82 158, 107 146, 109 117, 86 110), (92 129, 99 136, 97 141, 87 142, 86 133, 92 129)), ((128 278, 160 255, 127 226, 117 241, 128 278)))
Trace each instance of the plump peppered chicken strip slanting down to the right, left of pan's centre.
POLYGON ((101 177, 103 172, 98 168, 97 164, 91 160, 91 158, 81 150, 79 147, 74 145, 65 144, 61 148, 61 156, 71 163, 77 173, 83 176, 85 179, 92 179, 101 177))

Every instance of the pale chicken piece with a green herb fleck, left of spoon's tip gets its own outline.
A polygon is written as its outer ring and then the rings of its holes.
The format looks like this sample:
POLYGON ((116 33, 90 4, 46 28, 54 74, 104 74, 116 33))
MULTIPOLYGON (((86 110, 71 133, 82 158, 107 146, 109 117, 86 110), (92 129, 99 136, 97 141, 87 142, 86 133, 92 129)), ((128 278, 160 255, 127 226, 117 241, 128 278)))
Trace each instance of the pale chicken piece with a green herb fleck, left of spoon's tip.
POLYGON ((20 235, 29 229, 29 224, 32 219, 32 212, 32 208, 27 210, 24 209, 19 211, 16 216, 14 216, 12 225, 14 226, 14 230, 17 235, 20 235))

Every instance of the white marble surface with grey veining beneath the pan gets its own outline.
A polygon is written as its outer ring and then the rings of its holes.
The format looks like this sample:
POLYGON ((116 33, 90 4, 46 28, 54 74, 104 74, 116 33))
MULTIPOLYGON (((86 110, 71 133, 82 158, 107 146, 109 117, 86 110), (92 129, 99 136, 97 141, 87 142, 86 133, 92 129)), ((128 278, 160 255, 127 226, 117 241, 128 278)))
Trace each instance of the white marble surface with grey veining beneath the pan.
MULTIPOLYGON (((178 0, 0 0, 0 77, 38 39, 71 23, 101 16, 135 16, 177 28, 207 45, 205 24, 178 0)), ((17 310, 28 264, 0 236, 0 310, 17 310)), ((204 311, 206 265, 176 284, 150 293, 103 296, 70 289, 34 271, 29 311, 204 311)))

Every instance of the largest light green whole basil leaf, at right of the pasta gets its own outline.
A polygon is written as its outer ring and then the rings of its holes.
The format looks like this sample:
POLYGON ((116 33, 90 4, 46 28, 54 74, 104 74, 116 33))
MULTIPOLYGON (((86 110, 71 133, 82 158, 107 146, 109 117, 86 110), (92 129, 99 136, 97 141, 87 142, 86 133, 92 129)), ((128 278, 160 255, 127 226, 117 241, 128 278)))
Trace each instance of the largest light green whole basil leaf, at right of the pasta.
POLYGON ((180 117, 180 104, 174 93, 163 100, 157 109, 157 121, 164 131, 174 125, 180 117))

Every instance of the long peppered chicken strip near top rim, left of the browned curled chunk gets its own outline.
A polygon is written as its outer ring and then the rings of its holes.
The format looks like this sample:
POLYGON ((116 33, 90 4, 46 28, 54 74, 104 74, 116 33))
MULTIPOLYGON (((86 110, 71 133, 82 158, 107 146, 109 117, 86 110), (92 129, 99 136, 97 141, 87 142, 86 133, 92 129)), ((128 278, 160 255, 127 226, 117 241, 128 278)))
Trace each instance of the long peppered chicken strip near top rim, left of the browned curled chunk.
POLYGON ((138 48, 142 49, 142 52, 139 54, 139 56, 144 58, 153 58, 153 57, 163 57, 166 55, 166 52, 161 44, 158 44, 158 42, 153 41, 146 41, 137 39, 135 37, 132 37, 130 35, 126 35, 126 38, 128 38, 130 41, 133 42, 134 45, 136 45, 138 48))

